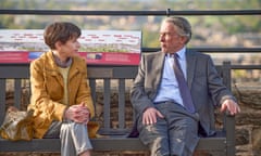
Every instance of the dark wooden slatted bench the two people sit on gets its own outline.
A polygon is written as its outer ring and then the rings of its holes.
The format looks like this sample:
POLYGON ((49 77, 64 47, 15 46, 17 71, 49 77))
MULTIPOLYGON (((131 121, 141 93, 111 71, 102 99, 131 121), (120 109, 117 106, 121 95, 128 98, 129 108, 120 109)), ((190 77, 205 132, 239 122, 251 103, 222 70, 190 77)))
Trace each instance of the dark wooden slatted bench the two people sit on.
MULTIPOLYGON (((223 77, 224 83, 231 89, 231 64, 228 62, 216 66, 223 77)), ((127 126, 126 116, 127 100, 129 100, 128 81, 133 81, 137 74, 137 66, 104 66, 88 65, 89 84, 95 104, 98 104, 98 90, 103 94, 102 101, 102 127, 99 131, 104 138, 91 139, 95 151, 148 151, 137 138, 126 138, 130 127, 127 126), (116 86, 111 81, 116 82, 116 86), (100 87, 100 83, 102 87, 100 87), (112 92, 117 92, 116 119, 115 109, 112 109, 112 92), (113 112, 112 112, 113 110, 113 112), (116 120, 116 128, 112 126, 116 120)), ((28 64, 0 64, 0 123, 5 114, 7 84, 10 79, 14 86, 14 105, 21 107, 21 100, 24 90, 24 81, 29 78, 28 64)), ((29 89, 29 87, 27 87, 29 89)), ((27 102, 29 100, 27 99, 27 102)), ((128 102, 129 103, 129 102, 128 102)), ((128 104, 129 105, 129 104, 128 104)), ((97 105, 96 108, 98 109, 97 105)), ((129 123, 128 123, 129 125, 129 123)), ((208 151, 219 155, 235 155, 235 118, 224 115, 223 127, 217 130, 216 135, 201 138, 197 151, 208 151)), ((33 141, 12 142, 0 139, 0 152, 60 152, 59 139, 34 139, 33 141)))

